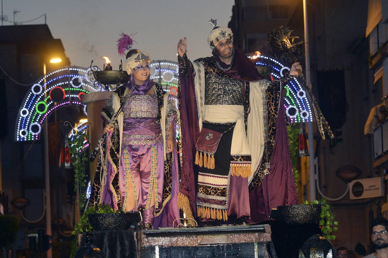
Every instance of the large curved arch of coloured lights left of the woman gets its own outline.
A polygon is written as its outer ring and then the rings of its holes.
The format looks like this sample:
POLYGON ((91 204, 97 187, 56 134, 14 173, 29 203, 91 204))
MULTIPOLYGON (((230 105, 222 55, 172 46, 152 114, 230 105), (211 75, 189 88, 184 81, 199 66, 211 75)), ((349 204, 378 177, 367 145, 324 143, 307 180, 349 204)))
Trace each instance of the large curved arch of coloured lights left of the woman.
POLYGON ((26 93, 19 108, 15 125, 15 141, 33 141, 40 138, 43 122, 57 108, 68 105, 83 108, 81 95, 105 91, 90 81, 90 68, 64 67, 40 78, 26 93), (46 80, 46 91, 45 91, 46 80), (56 101, 54 101, 56 100, 56 101))

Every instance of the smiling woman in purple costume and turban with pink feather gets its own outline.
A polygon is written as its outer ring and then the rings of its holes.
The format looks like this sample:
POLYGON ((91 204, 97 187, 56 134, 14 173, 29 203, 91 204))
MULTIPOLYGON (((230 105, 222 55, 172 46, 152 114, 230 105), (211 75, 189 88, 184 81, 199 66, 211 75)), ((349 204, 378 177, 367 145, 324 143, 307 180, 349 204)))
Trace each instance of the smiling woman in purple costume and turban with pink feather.
MULTIPOLYGON (((122 34, 119 53, 130 46, 132 39, 122 34)), ((174 99, 150 79, 150 60, 146 52, 128 51, 125 70, 130 80, 112 93, 102 109, 103 119, 110 122, 124 105, 113 126, 104 129, 107 138, 100 151, 90 202, 106 203, 124 212, 141 211, 145 228, 171 227, 179 217, 177 110, 174 99)))

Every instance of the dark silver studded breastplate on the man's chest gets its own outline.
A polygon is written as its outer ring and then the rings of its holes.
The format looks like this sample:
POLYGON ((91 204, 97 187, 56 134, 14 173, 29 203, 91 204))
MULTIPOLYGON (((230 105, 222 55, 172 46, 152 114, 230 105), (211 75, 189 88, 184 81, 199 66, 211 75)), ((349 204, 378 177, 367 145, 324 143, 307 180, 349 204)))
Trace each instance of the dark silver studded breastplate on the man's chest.
POLYGON ((212 72, 205 78, 205 105, 243 105, 242 81, 212 72))

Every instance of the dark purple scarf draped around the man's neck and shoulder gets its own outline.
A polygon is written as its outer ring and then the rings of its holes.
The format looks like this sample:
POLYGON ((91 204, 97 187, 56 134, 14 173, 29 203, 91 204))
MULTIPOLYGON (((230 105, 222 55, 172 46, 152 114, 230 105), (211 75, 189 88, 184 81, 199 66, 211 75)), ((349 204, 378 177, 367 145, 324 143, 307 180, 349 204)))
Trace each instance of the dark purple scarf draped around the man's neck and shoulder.
MULTIPOLYGON (((227 69, 230 66, 221 61, 216 48, 213 49, 212 53, 222 68, 227 69)), ((224 71, 224 73, 241 81, 258 81, 263 79, 253 62, 236 47, 234 47, 232 67, 228 71, 224 71)))

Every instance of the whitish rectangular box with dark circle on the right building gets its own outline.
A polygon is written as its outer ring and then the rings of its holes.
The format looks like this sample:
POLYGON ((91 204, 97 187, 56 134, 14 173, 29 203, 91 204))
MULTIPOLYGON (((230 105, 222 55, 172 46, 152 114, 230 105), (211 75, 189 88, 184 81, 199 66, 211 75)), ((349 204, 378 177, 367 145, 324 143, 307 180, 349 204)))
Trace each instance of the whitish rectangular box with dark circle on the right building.
POLYGON ((350 182, 350 200, 383 196, 384 188, 383 177, 353 180, 350 182))

